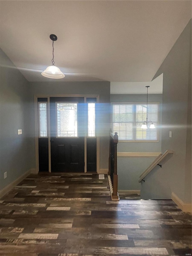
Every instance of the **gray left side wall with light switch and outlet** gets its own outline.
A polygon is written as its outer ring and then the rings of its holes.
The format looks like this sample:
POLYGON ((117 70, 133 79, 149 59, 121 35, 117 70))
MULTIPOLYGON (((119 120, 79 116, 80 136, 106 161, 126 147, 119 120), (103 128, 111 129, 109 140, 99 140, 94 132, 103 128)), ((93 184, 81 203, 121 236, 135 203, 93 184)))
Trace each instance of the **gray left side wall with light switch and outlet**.
POLYGON ((35 166, 29 82, 0 49, 0 190, 35 166), (22 134, 17 135, 17 130, 22 134), (7 178, 4 179, 4 172, 7 178))

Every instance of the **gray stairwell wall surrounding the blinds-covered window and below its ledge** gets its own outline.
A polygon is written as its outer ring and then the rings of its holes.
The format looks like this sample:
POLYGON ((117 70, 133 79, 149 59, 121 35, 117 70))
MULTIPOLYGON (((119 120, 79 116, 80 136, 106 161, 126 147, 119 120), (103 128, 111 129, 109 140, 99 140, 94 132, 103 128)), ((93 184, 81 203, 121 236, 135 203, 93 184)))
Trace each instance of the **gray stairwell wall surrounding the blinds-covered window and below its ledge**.
MULTIPOLYGON (((150 89, 150 88, 149 88, 150 89)), ((149 94, 148 101, 160 102, 160 124, 162 119, 162 95, 149 94)), ((146 102, 144 94, 111 95, 111 102, 146 102)), ((119 142, 118 152, 161 152, 161 132, 159 142, 119 142)), ((155 160, 155 158, 121 158, 117 159, 118 168, 118 189, 119 190, 140 190, 139 176, 155 160)))

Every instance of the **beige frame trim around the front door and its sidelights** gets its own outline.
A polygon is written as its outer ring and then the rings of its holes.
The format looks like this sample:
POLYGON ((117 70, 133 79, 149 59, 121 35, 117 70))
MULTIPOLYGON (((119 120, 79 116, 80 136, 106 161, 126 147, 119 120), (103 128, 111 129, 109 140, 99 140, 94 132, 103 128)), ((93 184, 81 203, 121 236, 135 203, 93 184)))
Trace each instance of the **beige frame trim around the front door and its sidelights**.
MULTIPOLYGON (((84 98, 84 102, 86 100, 86 98, 97 98, 97 103, 100 102, 100 95, 92 95, 92 94, 88 94, 88 95, 34 95, 34 110, 35 110, 35 167, 36 167, 36 172, 39 172, 39 147, 38 147, 38 98, 47 98, 47 117, 48 117, 48 151, 49 151, 49 173, 51 173, 51 142, 50 142, 50 97, 83 97, 84 98)), ((96 113, 97 114, 97 113, 96 113)), ((97 118, 96 118, 96 127, 98 127, 97 124, 97 118)), ((97 132, 97 131, 96 131, 97 132)), ((100 171, 100 137, 96 137, 97 138, 97 173, 99 173, 100 171)), ((86 155, 86 141, 87 138, 85 137, 84 139, 84 161, 85 163, 87 163, 87 155, 86 155)), ((84 168, 84 172, 87 172, 87 168, 86 168, 86 164, 85 164, 85 168, 84 168)))

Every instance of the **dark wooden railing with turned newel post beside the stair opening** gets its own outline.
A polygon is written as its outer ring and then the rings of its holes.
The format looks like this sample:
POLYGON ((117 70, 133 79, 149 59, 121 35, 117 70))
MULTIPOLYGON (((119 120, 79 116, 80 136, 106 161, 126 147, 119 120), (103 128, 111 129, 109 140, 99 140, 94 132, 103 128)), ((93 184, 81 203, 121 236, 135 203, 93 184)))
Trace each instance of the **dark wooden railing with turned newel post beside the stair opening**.
POLYGON ((118 195, 118 174, 117 174, 117 132, 113 134, 112 130, 109 131, 110 136, 110 149, 109 149, 109 172, 108 175, 111 178, 113 193, 111 194, 112 200, 119 200, 118 195))

